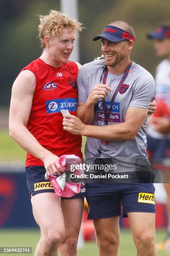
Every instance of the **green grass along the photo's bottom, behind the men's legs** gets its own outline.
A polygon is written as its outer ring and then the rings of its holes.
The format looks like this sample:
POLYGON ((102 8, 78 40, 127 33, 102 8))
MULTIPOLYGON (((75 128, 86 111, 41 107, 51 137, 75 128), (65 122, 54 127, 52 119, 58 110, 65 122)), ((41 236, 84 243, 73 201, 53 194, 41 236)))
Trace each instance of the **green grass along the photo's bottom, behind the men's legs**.
MULTIPOLYGON (((8 230, 0 229, 0 247, 32 247, 32 252, 40 238, 38 229, 8 230)), ((157 242, 163 241, 165 231, 156 232, 157 242)), ((5 253, 5 255, 8 255, 5 253)), ((10 254, 9 254, 10 255, 10 254)), ((34 255, 28 254, 28 255, 34 255)), ((95 242, 85 243, 83 249, 78 250, 79 256, 97 256, 95 242)), ((121 230, 119 256, 135 256, 136 250, 129 230, 121 230)), ((159 251, 158 256, 167 256, 164 251, 159 251)))

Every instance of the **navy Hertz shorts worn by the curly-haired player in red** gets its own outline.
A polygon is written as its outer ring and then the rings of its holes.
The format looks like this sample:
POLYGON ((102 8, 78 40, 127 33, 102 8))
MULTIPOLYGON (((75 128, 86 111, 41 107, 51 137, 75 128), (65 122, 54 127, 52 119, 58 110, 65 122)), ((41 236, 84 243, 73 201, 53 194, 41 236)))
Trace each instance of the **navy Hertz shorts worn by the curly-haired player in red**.
MULTIPOLYGON (((27 187, 30 195, 34 196, 40 193, 55 193, 50 180, 45 179, 44 166, 28 166, 25 168, 27 177, 27 187)), ((85 185, 80 188, 80 192, 73 197, 62 197, 62 199, 71 199, 85 197, 85 185)))

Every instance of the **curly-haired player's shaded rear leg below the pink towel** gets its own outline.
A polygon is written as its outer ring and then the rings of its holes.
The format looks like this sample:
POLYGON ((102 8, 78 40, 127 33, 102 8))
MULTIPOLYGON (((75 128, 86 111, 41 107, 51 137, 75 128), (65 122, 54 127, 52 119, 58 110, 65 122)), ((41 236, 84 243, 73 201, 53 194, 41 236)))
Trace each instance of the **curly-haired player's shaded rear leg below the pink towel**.
POLYGON ((65 236, 59 247, 60 256, 77 256, 77 241, 82 221, 83 198, 62 199, 65 236))

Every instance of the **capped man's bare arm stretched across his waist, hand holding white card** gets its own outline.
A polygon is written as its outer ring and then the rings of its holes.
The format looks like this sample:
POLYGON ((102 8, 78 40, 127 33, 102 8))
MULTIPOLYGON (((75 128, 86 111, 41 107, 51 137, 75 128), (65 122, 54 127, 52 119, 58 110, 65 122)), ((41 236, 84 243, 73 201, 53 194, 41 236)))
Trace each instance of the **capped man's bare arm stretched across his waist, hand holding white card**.
POLYGON ((129 107, 124 123, 105 126, 85 125, 79 118, 67 114, 63 119, 63 129, 76 135, 103 141, 133 140, 142 127, 147 113, 148 109, 129 107))

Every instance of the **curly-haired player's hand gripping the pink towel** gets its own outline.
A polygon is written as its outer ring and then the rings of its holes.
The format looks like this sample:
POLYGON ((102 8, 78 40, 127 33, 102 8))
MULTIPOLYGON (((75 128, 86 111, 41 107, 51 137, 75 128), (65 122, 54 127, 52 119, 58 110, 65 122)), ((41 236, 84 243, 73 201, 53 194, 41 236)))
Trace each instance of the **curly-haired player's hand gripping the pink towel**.
POLYGON ((51 176, 51 174, 61 175, 65 172, 62 166, 59 164, 59 157, 52 153, 48 156, 45 156, 43 162, 48 176, 51 176))

